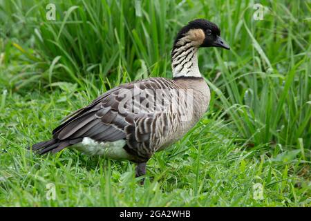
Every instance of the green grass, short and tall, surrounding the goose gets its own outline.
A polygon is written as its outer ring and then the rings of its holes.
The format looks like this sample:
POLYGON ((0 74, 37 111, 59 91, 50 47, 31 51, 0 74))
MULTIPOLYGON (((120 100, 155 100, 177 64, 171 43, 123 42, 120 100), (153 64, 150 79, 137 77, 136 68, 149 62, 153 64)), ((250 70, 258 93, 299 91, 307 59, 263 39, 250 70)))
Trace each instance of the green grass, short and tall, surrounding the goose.
POLYGON ((311 206, 310 15, 311 1, 0 0, 0 206, 311 206), (200 51, 209 110, 144 186, 129 162, 26 150, 109 88, 171 77, 195 18, 231 50, 200 51))

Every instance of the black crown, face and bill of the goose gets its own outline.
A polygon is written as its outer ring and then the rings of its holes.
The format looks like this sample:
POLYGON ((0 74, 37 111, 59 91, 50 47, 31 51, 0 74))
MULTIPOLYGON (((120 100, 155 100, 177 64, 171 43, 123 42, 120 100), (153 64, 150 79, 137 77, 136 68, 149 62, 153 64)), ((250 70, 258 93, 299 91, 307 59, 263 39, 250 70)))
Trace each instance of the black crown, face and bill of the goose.
POLYGON ((196 19, 194 21, 190 21, 187 26, 182 28, 176 37, 176 41, 185 35, 185 33, 189 32, 189 30, 202 30, 204 32, 204 40, 200 44, 201 48, 205 47, 218 47, 225 48, 227 50, 230 49, 229 45, 220 37, 220 29, 216 24, 211 21, 207 21, 205 19, 196 19))

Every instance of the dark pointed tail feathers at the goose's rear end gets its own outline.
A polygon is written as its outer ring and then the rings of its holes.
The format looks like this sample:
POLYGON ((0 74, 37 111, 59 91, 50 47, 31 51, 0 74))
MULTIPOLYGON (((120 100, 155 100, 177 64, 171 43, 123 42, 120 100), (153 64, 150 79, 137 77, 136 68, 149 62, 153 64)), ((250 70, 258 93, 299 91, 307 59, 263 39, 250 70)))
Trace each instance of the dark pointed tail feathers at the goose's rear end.
POLYGON ((66 148, 67 146, 71 146, 68 140, 59 140, 59 139, 52 139, 44 142, 39 142, 37 144, 32 145, 30 150, 34 151, 38 154, 44 154, 48 152, 57 153, 62 151, 62 149, 66 148))

